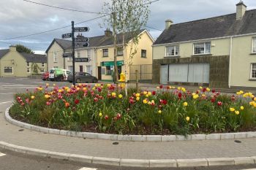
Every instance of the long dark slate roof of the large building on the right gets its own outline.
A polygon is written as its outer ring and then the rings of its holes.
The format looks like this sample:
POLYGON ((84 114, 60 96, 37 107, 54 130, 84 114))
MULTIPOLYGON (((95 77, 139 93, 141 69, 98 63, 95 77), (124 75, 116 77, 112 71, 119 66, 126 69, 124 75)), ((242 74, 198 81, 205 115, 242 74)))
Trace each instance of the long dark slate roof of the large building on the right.
POLYGON ((251 33, 256 33, 256 9, 246 11, 241 20, 236 20, 234 13, 173 24, 162 32, 154 45, 251 33))

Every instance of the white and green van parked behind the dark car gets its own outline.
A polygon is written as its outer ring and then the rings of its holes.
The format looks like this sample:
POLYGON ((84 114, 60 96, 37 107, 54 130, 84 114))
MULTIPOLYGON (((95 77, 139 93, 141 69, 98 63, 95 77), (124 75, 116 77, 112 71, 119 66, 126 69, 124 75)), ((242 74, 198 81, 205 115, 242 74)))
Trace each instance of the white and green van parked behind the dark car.
POLYGON ((49 80, 62 81, 67 80, 67 77, 71 72, 67 69, 50 69, 49 80))

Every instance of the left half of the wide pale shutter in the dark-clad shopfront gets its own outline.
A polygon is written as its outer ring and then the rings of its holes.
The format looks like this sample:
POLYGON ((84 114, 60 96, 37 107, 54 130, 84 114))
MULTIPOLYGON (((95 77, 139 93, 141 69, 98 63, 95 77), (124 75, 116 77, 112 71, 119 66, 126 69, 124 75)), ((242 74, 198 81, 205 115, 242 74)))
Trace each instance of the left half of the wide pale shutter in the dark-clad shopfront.
POLYGON ((189 66, 185 64, 169 65, 169 82, 187 82, 189 66))

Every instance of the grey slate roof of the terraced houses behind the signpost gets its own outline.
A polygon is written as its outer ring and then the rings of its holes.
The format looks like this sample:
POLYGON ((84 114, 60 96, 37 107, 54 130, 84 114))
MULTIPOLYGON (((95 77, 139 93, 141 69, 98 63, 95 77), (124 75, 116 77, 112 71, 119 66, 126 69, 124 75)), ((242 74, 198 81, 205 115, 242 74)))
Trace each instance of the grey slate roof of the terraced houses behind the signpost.
MULTIPOLYGON (((140 34, 143 31, 144 30, 138 31, 138 34, 140 34)), ((116 39, 118 44, 122 43, 121 34, 117 34, 116 39)), ((125 39, 126 39, 126 42, 129 42, 129 40, 132 39, 132 34, 129 34, 129 33, 125 34, 125 39)), ((48 47, 45 53, 48 53, 48 50, 50 50, 50 47, 53 45, 54 42, 60 45, 63 50, 72 49, 72 41, 65 40, 65 39, 53 39, 53 42, 51 42, 50 46, 48 47)), ((108 46, 108 45, 113 45, 113 36, 103 35, 103 36, 89 37, 89 47, 101 47, 101 46, 108 46)), ((80 48, 83 48, 83 47, 80 47, 80 48)))

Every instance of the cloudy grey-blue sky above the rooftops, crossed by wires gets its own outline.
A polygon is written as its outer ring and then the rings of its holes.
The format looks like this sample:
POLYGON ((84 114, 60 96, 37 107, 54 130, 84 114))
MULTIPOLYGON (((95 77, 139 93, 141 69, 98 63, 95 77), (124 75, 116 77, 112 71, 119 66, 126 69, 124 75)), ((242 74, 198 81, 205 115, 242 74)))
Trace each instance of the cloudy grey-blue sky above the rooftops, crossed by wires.
MULTIPOLYGON (((42 4, 50 4, 56 7, 78 9, 83 11, 101 12, 103 2, 106 0, 31 0, 42 4)), ((191 20, 211 18, 236 12, 236 4, 239 0, 159 0, 151 4, 151 15, 148 26, 163 30, 165 20, 171 19, 173 23, 183 23, 191 20)), ((97 18, 97 14, 72 12, 62 9, 54 9, 31 4, 23 0, 1 0, 0 8, 0 49, 7 49, 11 43, 25 45, 36 53, 45 51, 54 38, 61 38, 61 34, 69 33, 70 28, 58 31, 50 31, 18 39, 9 39, 15 36, 35 34, 54 28, 69 26, 71 20, 79 23, 84 20, 97 18)), ((256 9, 255 0, 244 0, 247 10, 256 9)), ((90 31, 83 33, 85 36, 100 36, 105 28, 100 27, 102 19, 92 20, 78 26, 89 26, 90 31)), ((148 28, 150 34, 156 39, 162 31, 148 28)))

